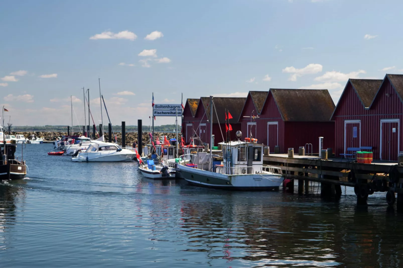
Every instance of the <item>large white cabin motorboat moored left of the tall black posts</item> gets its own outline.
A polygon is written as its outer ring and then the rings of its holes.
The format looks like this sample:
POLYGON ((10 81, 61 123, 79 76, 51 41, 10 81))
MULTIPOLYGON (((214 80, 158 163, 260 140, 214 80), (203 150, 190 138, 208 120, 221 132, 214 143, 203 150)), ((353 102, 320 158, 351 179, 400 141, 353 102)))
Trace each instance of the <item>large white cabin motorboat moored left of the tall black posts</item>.
POLYGON ((79 152, 77 156, 72 157, 73 162, 122 162, 132 161, 136 153, 122 149, 114 143, 102 142, 98 140, 91 141, 91 145, 84 152, 79 152))

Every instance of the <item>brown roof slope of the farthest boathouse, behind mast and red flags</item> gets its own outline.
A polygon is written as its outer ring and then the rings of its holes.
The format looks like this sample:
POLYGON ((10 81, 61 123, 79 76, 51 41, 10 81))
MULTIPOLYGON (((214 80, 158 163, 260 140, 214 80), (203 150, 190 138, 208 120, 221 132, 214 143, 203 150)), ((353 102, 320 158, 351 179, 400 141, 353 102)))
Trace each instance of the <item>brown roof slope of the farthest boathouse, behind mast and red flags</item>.
MULTIPOLYGON (((201 97, 200 101, 203 103, 204 109, 207 111, 207 119, 210 120, 210 97, 201 97)), ((231 124, 238 123, 239 116, 241 115, 243 105, 245 105, 246 98, 227 98, 227 97, 214 97, 214 107, 216 107, 218 119, 221 124, 225 123, 225 109, 229 110, 232 115, 232 119, 229 120, 231 124)), ((217 122, 217 115, 213 107, 213 124, 217 122)), ((203 119, 206 119, 206 116, 203 119)))

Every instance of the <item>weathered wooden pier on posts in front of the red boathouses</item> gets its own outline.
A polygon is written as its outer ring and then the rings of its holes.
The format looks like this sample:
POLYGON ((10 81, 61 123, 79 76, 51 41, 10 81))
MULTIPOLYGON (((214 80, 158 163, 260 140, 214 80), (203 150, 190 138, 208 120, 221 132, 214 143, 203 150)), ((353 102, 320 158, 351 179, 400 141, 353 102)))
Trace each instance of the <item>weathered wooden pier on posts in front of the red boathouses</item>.
POLYGON ((368 195, 385 192, 388 204, 395 203, 403 210, 403 166, 396 162, 373 161, 372 164, 357 163, 355 159, 329 158, 318 156, 270 154, 263 157, 264 164, 281 167, 287 179, 291 179, 284 189, 294 190, 298 180, 298 193, 307 192, 308 181, 321 183, 321 196, 338 198, 341 186, 354 187, 357 203, 365 204, 368 195))

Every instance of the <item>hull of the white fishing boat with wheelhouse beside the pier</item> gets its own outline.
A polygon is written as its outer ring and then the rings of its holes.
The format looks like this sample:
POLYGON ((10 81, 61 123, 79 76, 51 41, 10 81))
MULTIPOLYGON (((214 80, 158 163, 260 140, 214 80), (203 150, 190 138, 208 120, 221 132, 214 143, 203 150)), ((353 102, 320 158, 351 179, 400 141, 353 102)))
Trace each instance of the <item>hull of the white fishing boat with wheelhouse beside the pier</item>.
POLYGON ((225 175, 183 165, 179 165, 179 170, 181 176, 189 184, 215 189, 240 191, 278 190, 283 182, 283 177, 277 174, 225 175))

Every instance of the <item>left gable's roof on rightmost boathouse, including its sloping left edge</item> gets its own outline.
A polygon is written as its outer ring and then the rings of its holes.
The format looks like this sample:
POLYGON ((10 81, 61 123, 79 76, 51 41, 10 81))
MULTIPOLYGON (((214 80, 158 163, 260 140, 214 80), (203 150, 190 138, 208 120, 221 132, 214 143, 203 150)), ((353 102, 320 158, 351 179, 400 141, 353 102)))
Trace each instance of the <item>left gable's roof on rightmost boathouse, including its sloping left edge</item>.
POLYGON ((375 96, 380 88, 380 85, 382 84, 382 80, 381 79, 351 79, 350 78, 347 81, 347 84, 343 89, 343 93, 341 93, 339 101, 337 102, 336 108, 334 109, 334 111, 330 117, 330 120, 332 120, 337 107, 339 107, 340 101, 343 98, 343 95, 346 92, 346 89, 349 84, 351 84, 351 86, 353 87, 355 93, 357 94, 359 101, 361 101, 362 106, 364 106, 364 109, 369 109, 369 107, 372 105, 372 102, 375 99, 375 96))

